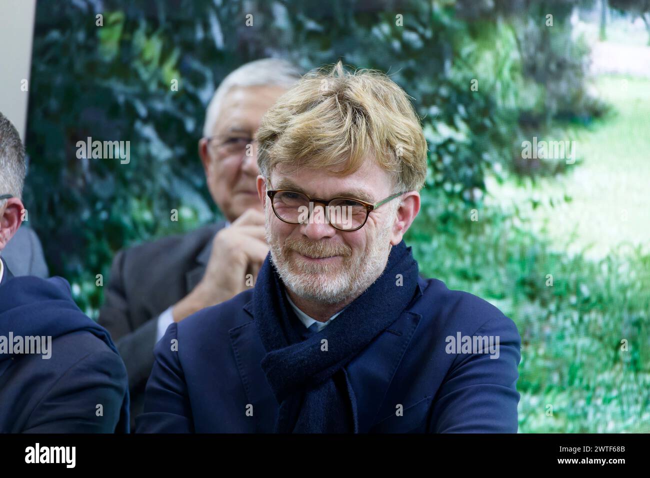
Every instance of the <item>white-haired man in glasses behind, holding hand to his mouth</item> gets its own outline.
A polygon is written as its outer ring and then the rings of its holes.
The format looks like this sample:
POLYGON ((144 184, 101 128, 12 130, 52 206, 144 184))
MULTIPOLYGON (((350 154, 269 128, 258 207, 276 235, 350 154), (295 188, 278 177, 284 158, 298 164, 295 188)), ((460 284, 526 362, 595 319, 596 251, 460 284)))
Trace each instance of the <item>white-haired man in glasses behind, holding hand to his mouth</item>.
POLYGON ((281 59, 255 60, 229 73, 207 107, 198 143, 207 186, 227 220, 120 250, 113 259, 99 324, 116 341, 129 374, 132 425, 144 405, 153 347, 168 325, 230 299, 251 278, 254 283, 268 245, 253 137, 266 110, 299 78, 281 59))

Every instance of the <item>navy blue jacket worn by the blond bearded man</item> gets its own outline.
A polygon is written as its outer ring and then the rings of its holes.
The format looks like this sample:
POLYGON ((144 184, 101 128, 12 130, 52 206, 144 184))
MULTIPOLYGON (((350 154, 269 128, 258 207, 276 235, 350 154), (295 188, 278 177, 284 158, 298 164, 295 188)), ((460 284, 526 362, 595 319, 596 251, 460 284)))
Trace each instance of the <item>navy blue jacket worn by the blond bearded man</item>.
MULTIPOLYGON (((437 279, 418 282, 419 297, 345 367, 359 431, 517 432, 517 327, 486 300, 437 279), (499 336, 499 358, 447 353, 446 338, 458 332, 499 336)), ((137 432, 273 431, 278 403, 260 365, 253 290, 167 329, 137 432)))

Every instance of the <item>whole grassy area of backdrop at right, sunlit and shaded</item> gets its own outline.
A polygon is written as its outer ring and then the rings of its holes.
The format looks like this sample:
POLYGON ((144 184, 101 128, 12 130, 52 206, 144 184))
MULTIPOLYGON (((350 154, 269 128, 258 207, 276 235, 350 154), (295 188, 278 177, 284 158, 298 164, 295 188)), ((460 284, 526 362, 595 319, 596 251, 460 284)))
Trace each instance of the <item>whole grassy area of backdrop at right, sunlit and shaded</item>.
POLYGON ((409 231, 425 274, 517 324, 520 432, 650 432, 650 82, 623 80, 599 79, 614 111, 573 129, 565 177, 489 182, 478 221, 426 191, 409 231))

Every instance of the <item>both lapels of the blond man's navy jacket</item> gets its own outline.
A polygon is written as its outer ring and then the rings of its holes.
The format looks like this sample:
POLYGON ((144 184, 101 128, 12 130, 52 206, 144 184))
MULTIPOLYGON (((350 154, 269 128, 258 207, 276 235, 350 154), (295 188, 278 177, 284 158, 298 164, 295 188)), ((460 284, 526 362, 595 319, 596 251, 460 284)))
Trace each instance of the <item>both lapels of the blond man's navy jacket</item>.
MULTIPOLYGON (((426 282, 418 278, 413 299, 406 309, 345 367, 357 401, 357 423, 361 433, 368 432, 378 418, 383 398, 422 318, 421 314, 411 312, 411 309, 422 297, 425 285, 426 282)), ((260 365, 266 352, 254 326, 253 300, 244 304, 243 310, 253 320, 231 329, 230 335, 235 356, 239 357, 237 367, 245 384, 246 395, 250 403, 270 403, 270 397, 277 406, 260 365)))

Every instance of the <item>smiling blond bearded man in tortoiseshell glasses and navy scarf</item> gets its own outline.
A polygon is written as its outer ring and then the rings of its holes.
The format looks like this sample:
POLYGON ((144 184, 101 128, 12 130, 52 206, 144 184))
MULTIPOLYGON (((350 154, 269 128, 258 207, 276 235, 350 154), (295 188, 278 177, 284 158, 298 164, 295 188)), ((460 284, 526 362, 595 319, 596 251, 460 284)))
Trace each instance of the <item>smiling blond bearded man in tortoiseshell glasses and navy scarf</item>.
POLYGON ((137 431, 516 432, 516 326, 419 277, 403 241, 427 170, 404 91, 339 63, 258 140, 270 254, 253 290, 168 328, 137 431))

